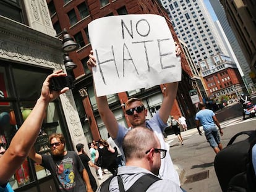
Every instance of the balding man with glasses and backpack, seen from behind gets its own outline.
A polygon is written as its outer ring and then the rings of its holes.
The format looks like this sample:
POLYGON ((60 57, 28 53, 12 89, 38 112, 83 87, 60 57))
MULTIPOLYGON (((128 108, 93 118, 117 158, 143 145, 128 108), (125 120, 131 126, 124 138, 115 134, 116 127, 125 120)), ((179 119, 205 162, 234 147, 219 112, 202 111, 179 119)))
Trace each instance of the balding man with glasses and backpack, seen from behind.
MULTIPOLYGON (((126 156, 126 165, 118 168, 117 176, 111 178, 109 186, 108 180, 103 184, 107 187, 106 191, 121 191, 117 177, 121 178, 121 185, 124 186, 125 191, 135 191, 141 185, 147 186, 149 180, 140 182, 140 185, 134 184, 143 175, 150 175, 156 180, 142 191, 182 191, 177 183, 156 177, 161 159, 166 157, 167 151, 160 149, 160 142, 152 130, 145 127, 132 129, 124 137, 122 148, 126 156), (132 188, 134 190, 131 190, 132 188)), ((103 185, 98 192, 105 192, 103 185)))

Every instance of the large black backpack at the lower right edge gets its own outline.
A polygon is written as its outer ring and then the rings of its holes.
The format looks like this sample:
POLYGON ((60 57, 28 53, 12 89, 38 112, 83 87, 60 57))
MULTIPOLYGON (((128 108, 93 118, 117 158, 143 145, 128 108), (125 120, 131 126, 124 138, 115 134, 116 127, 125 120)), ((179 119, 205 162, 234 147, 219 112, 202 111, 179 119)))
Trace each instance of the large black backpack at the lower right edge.
POLYGON ((231 138, 226 148, 215 156, 214 167, 222 191, 256 191, 256 178, 252 165, 252 147, 256 144, 256 130, 242 131, 231 138), (245 140, 233 144, 239 135, 245 140))

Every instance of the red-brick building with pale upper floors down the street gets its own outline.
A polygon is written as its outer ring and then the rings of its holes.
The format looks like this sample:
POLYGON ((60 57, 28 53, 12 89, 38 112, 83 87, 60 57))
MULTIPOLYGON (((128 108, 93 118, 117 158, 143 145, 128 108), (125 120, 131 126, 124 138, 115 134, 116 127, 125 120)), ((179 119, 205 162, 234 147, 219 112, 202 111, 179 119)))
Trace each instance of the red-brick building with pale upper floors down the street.
POLYGON ((230 57, 217 54, 199 65, 211 99, 239 99, 242 93, 247 93, 236 64, 230 57))

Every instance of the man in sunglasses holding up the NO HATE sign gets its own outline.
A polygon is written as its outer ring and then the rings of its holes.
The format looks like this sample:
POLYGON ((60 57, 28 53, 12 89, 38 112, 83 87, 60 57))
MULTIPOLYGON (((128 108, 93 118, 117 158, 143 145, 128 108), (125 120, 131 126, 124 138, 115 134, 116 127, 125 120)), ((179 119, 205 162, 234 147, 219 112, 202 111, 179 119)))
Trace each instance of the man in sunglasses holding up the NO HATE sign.
MULTIPOLYGON (((176 46, 176 55, 179 54, 181 54, 181 49, 179 46, 176 46)), ((90 59, 87 61, 87 66, 88 69, 92 72, 92 67, 96 67, 96 60, 92 54, 90 54, 89 57, 90 59)), ((166 122, 169 118, 171 108, 173 107, 174 99, 176 98, 177 86, 177 82, 165 84, 166 90, 164 92, 163 102, 159 111, 153 115, 151 120, 146 121, 147 109, 145 109, 145 106, 140 99, 129 99, 125 104, 125 110, 126 117, 132 125, 132 128, 142 126, 152 129, 160 140, 161 148, 168 150, 168 155, 166 158, 161 159, 161 167, 159 172, 160 178, 169 179, 173 182, 176 182, 178 185, 181 185, 179 181, 179 175, 174 169, 173 161, 169 155, 169 146, 166 146, 163 138, 163 131, 164 128, 167 127, 166 122)), ((122 140, 129 130, 121 124, 117 123, 116 117, 109 109, 106 96, 97 97, 95 94, 95 98, 98 106, 98 112, 100 113, 101 119, 105 123, 108 133, 114 139, 115 143, 122 152, 122 140)))

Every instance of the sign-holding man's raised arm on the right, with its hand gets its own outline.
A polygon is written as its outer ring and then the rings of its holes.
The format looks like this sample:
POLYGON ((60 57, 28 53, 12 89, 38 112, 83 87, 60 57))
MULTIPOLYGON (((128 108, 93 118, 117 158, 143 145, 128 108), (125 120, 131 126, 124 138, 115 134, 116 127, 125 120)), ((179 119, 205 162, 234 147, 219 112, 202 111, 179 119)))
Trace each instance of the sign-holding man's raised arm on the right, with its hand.
MULTIPOLYGON (((181 48, 179 48, 179 45, 176 43, 176 55, 179 56, 180 54, 181 48)), ((164 92, 163 102, 159 109, 159 116, 164 123, 166 123, 169 118, 171 108, 173 107, 174 100, 176 99, 178 85, 178 82, 167 83, 164 85, 166 89, 164 92)))

